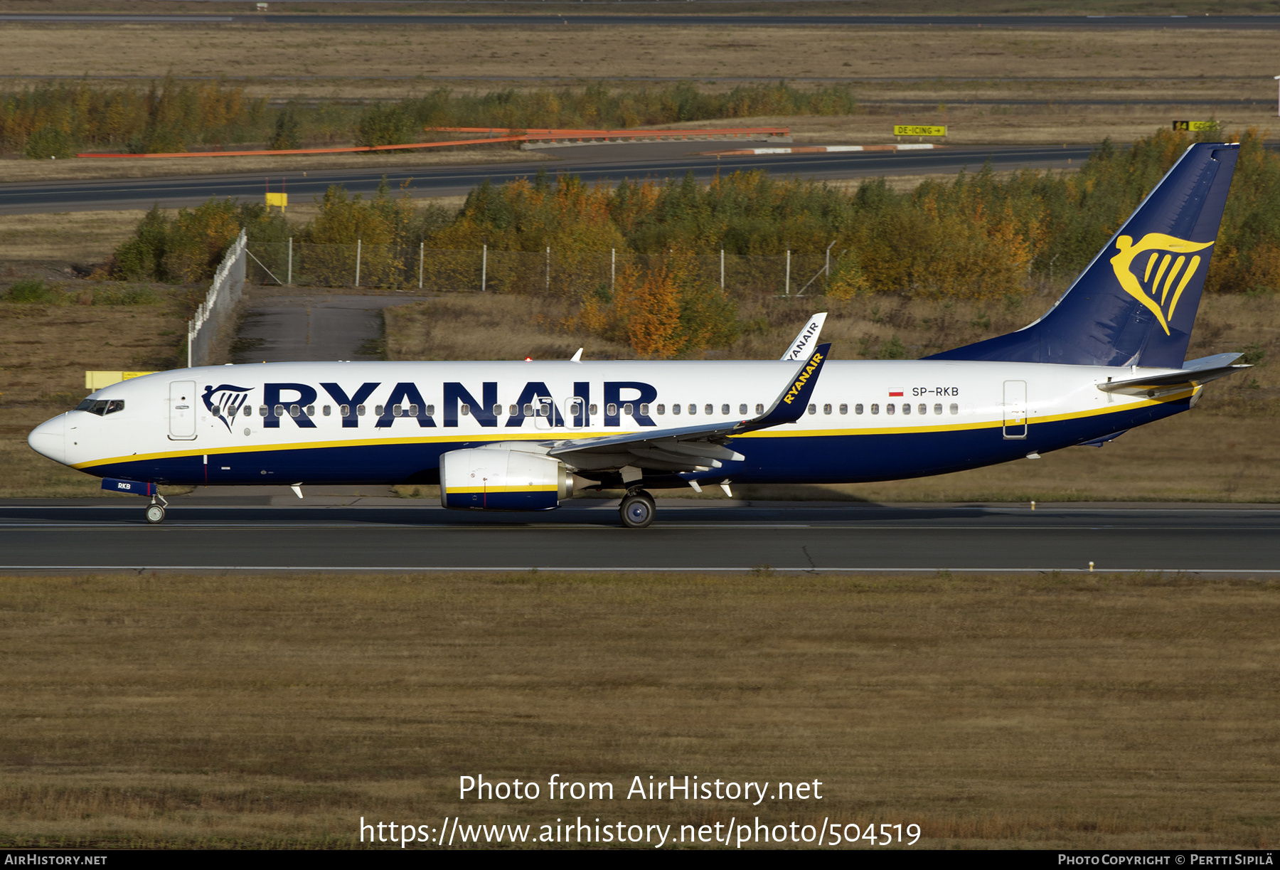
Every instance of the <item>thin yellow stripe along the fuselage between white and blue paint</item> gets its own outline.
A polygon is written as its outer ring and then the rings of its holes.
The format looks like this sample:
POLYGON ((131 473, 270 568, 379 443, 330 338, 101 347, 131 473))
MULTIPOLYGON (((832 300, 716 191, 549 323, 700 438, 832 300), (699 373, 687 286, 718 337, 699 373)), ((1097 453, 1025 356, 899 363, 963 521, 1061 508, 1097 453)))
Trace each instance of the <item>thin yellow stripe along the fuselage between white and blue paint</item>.
MULTIPOLYGON (((1158 398, 1143 398, 1137 402, 1126 402, 1123 406, 1110 406, 1110 407, 1096 407, 1087 411, 1073 411, 1070 414, 1052 414, 1048 416, 1037 416, 1030 419, 1030 425, 1037 425, 1039 423, 1057 423, 1060 420, 1078 420, 1088 416, 1105 416, 1107 414, 1119 414, 1121 411, 1132 411, 1139 407, 1147 407, 1151 405, 1164 405, 1172 401, 1179 401, 1194 395, 1196 387, 1193 390, 1184 390, 1181 392, 1161 396, 1158 398)), ((749 432, 746 434, 735 436, 739 438, 822 438, 833 436, 872 436, 872 434, 919 434, 925 432, 964 432, 972 429, 1000 429, 1005 425, 1002 419, 997 420, 979 420, 977 423, 951 423, 945 425, 902 425, 902 427, 876 427, 876 428, 859 428, 859 429, 800 429, 800 431, 782 431, 783 427, 777 427, 776 429, 762 429, 760 432, 749 432)), ((563 433, 557 432, 554 436, 548 437, 550 433, 538 432, 538 433, 457 433, 457 434, 440 434, 440 436, 421 436, 416 438, 358 438, 353 441, 316 441, 316 442, 302 442, 302 443, 283 443, 283 445, 252 445, 246 447, 205 447, 202 450, 175 450, 159 454, 134 454, 132 456, 115 456, 111 459, 95 459, 87 463, 77 463, 70 465, 70 468, 86 470, 96 468, 99 465, 113 465, 116 463, 142 463, 154 459, 178 459, 182 456, 204 456, 206 454, 216 454, 218 456, 230 456, 239 454, 259 454, 269 451, 280 450, 321 450, 326 447, 370 447, 379 445, 426 445, 426 443, 440 443, 440 442, 494 442, 494 441, 566 441, 564 436, 573 433, 573 429, 564 429, 563 433)), ((660 431, 659 431, 660 432, 660 431)), ((659 432, 654 432, 655 436, 659 432)), ((604 438, 620 434, 632 434, 632 432, 596 432, 596 433, 577 433, 581 438, 604 438)))

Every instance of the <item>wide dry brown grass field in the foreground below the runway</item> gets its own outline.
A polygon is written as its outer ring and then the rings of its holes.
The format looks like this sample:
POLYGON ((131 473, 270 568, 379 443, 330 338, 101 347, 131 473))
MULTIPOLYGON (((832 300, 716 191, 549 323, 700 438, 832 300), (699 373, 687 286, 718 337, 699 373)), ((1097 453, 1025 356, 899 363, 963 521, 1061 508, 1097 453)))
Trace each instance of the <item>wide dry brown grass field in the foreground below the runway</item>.
MULTIPOLYGON (((931 847, 1275 844, 1275 582, 78 575, 0 587, 6 846, 438 825, 918 823, 931 847), (457 778, 618 798, 456 800, 457 778), (631 776, 818 779, 640 803, 631 776)), ((545 796, 545 789, 544 789, 545 796)))

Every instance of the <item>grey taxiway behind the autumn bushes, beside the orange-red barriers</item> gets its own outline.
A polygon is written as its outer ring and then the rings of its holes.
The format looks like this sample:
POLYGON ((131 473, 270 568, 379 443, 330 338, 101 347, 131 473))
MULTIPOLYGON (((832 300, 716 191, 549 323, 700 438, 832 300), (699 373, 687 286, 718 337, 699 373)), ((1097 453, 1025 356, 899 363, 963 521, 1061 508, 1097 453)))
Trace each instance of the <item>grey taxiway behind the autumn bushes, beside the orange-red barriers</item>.
MULTIPOLYGON (((742 145, 742 147, 750 144, 742 145)), ((504 163, 488 165, 413 165, 406 156, 401 169, 302 169, 273 176, 273 190, 287 179, 291 201, 307 201, 321 196, 330 185, 344 185, 353 193, 372 193, 383 176, 393 191, 411 181, 416 196, 456 196, 466 193, 486 178, 502 183, 529 177, 539 169, 549 173, 572 173, 588 183, 621 181, 622 178, 682 177, 692 172, 707 182, 717 172, 767 169, 777 176, 804 178, 858 178, 863 176, 910 176, 920 173, 954 173, 961 168, 975 170, 991 160, 996 170, 1057 169, 1078 165, 1091 152, 1088 146, 1052 147, 956 147, 940 151, 842 152, 842 154, 769 154, 756 156, 714 158, 698 151, 727 150, 733 142, 654 142, 591 145, 557 150, 553 163, 504 163), (1070 163, 1069 163, 1070 161, 1070 163)), ((100 209, 147 209, 152 204, 165 208, 198 205, 211 196, 260 200, 262 176, 184 176, 160 178, 123 178, 111 181, 32 182, 0 185, 0 214, 37 211, 87 211, 100 209)))

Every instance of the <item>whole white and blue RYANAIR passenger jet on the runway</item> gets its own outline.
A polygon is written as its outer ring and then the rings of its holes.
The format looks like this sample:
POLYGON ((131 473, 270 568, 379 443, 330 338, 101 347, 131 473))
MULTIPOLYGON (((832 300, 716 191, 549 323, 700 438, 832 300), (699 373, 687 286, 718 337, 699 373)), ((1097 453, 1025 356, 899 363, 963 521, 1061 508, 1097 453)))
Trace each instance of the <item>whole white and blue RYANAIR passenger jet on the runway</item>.
POLYGON ((777 361, 269 363, 116 383, 32 448, 114 492, 439 484, 445 507, 545 510, 622 488, 856 483, 1096 445, 1185 411, 1239 354, 1185 361, 1236 145, 1192 145, 1057 304, 922 360, 831 360, 820 318, 777 361))

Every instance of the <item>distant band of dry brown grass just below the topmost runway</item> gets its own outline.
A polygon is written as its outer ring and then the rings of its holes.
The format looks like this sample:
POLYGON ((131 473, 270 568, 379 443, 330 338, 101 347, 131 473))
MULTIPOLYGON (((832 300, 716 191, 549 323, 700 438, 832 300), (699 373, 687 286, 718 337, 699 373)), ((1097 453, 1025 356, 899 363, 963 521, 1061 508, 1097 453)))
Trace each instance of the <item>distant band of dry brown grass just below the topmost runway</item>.
MULTIPOLYGON (((1254 82, 1274 31, 1083 31, 883 27, 404 27, 315 24, 38 24, 5 22, 0 73, 12 76, 424 76, 466 79, 564 76, 977 79, 1137 78, 1189 96, 1162 79, 1201 76, 1254 82), (76 51, 65 50, 68 44, 76 51)), ((291 82, 298 88, 307 82, 291 82)), ((348 85, 353 87, 355 85, 348 85)), ((429 79, 383 82, 399 92, 429 79)), ((1132 87, 1115 85, 1111 87, 1132 87)), ((1215 87, 1213 83, 1199 83, 1215 87)), ((271 96, 279 94, 279 83, 271 96)), ((329 92, 332 82, 312 88, 329 92)), ((1160 96, 1147 92, 1144 96, 1160 96)), ((1239 97, 1243 94, 1233 94, 1239 97)))

